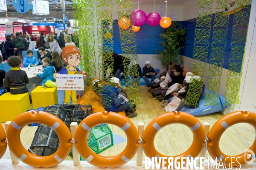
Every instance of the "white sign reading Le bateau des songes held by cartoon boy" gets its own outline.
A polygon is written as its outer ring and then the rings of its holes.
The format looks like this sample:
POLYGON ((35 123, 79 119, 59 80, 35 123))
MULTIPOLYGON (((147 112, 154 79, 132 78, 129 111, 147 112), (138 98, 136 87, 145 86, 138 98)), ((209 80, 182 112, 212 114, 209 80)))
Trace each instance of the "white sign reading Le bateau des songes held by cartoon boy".
POLYGON ((84 91, 84 75, 56 74, 57 90, 84 91))

